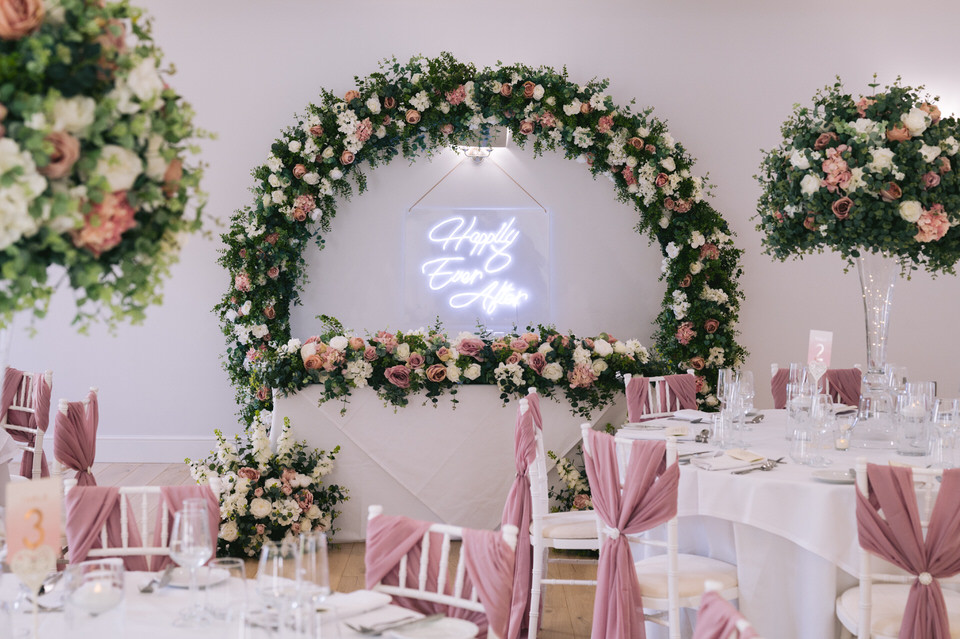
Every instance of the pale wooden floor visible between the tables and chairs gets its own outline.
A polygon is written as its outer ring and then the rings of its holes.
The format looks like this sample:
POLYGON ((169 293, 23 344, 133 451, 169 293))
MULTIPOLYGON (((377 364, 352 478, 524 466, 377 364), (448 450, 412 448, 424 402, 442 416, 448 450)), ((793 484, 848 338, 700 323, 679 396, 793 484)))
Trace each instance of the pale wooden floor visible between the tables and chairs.
MULTIPOLYGON (((19 465, 11 466, 16 473, 19 465)), ((193 482, 185 464, 96 463, 93 474, 101 486, 185 486, 193 482)), ((336 542, 336 538, 333 540, 336 542)), ((364 586, 363 543, 333 543, 330 547, 330 585, 350 592, 364 586)), ((248 562, 249 576, 256 563, 248 562)), ((596 568, 579 564, 553 564, 550 577, 595 579, 596 568)), ((588 639, 593 617, 592 586, 547 586, 540 639, 588 639)))

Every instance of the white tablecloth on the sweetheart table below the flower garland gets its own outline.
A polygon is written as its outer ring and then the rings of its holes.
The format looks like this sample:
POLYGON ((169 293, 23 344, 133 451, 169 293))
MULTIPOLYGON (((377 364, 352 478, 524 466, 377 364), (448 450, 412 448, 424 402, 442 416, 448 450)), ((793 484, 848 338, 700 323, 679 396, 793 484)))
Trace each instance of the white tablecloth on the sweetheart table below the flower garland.
MULTIPOLYGON (((320 386, 275 396, 272 437, 289 417, 294 437, 323 450, 340 446, 329 483, 345 486, 350 499, 335 526, 336 541, 364 539, 367 507, 382 504, 388 514, 472 528, 495 528, 513 481, 513 439, 517 403, 503 405, 496 386, 466 386, 441 397, 436 408, 414 396, 405 408, 384 406, 369 389, 343 402, 318 402, 320 386)), ((580 424, 620 424, 620 401, 586 420, 565 400, 541 398, 544 445, 562 455, 580 440, 580 424)))

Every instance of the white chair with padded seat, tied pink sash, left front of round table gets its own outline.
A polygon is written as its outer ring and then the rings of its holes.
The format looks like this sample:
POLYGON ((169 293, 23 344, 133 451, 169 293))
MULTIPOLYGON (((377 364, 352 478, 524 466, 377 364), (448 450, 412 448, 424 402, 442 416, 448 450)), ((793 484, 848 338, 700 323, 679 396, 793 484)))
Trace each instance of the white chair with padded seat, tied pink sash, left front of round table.
MULTIPOLYGON (((583 431, 583 452, 590 455, 587 432, 590 424, 581 425, 583 431)), ((627 481, 625 477, 626 462, 634 439, 616 437, 617 457, 621 484, 627 481)), ((677 442, 669 437, 667 444, 667 464, 677 463, 677 442)), ((643 596, 643 607, 647 610, 661 612, 647 614, 646 619, 652 623, 666 626, 669 629, 670 639, 680 638, 680 608, 699 608, 700 600, 706 592, 705 584, 715 582, 714 588, 726 600, 739 597, 737 567, 718 559, 699 555, 681 554, 679 551, 679 533, 677 517, 674 516, 666 524, 667 540, 651 539, 646 533, 628 535, 632 543, 661 548, 664 554, 655 555, 635 562, 637 579, 643 596), (716 588, 719 584, 719 588, 716 588)), ((604 525, 597 520, 598 533, 601 543, 605 539, 604 525)))

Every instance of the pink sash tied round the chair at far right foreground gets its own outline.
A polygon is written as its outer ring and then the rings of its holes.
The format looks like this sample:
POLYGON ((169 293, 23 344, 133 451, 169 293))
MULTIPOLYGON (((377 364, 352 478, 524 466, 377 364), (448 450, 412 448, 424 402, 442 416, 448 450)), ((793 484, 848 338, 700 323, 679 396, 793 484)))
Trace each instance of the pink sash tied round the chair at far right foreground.
POLYGON ((918 575, 907 597, 900 639, 949 639, 947 608, 937 580, 960 573, 960 469, 943 473, 926 540, 920 527, 913 472, 904 467, 868 464, 867 479, 869 497, 857 491, 860 546, 918 575), (883 517, 878 514, 881 510, 883 517))

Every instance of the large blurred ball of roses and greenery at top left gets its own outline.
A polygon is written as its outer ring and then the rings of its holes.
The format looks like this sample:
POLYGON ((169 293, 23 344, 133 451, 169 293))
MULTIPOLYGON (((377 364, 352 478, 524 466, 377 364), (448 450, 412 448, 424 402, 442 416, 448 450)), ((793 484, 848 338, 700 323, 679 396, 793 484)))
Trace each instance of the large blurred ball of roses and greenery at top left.
POLYGON ((42 316, 66 270, 76 320, 144 317, 200 227, 193 111, 126 0, 0 0, 0 326, 42 316))

